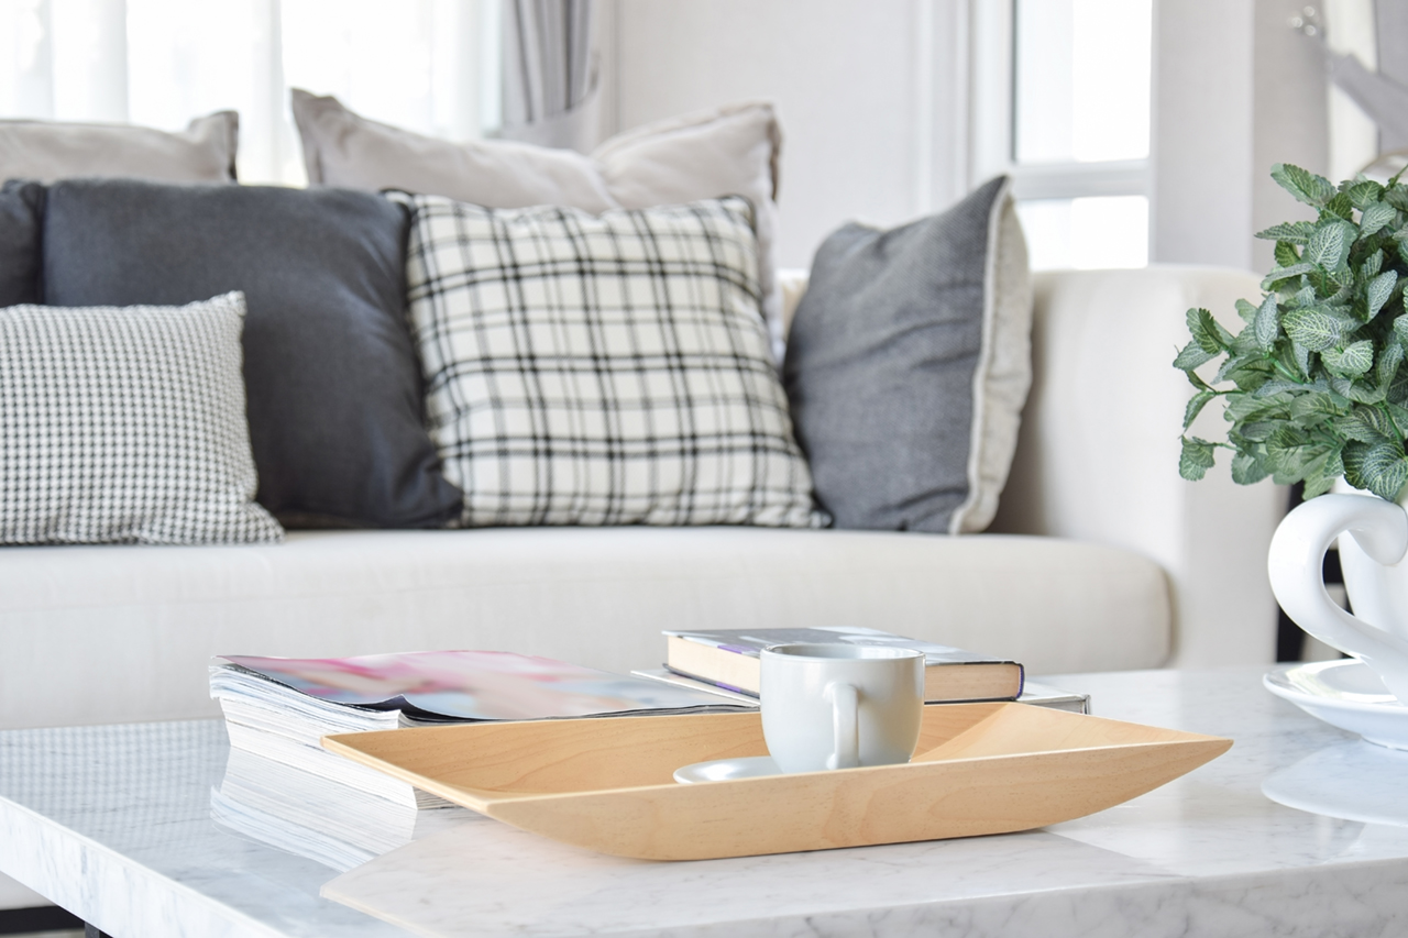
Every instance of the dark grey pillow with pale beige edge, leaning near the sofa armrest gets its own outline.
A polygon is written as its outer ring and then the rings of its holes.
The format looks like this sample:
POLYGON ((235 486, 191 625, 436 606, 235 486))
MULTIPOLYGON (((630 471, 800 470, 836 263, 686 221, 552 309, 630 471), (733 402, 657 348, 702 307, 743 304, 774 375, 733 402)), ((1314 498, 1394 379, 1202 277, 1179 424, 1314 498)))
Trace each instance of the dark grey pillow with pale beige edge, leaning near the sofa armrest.
POLYGON ((1031 277, 1005 179, 817 251, 784 379, 839 528, 981 531, 1031 386, 1031 277))

